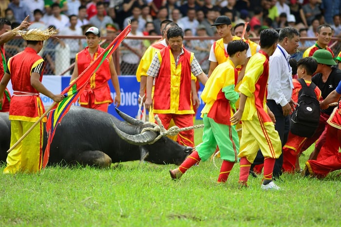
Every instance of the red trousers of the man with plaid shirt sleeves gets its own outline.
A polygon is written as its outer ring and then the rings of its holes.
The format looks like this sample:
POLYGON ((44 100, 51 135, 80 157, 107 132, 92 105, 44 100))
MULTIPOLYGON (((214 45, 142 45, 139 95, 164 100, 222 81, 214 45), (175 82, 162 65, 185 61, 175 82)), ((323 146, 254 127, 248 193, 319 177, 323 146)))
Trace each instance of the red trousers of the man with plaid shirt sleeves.
MULTIPOLYGON (((156 114, 154 114, 156 115, 156 114)), ((193 126, 193 114, 157 114, 165 129, 170 126, 170 120, 173 119, 174 124, 181 128, 193 126)), ((194 147, 194 130, 179 132, 176 139, 181 145, 194 147)))

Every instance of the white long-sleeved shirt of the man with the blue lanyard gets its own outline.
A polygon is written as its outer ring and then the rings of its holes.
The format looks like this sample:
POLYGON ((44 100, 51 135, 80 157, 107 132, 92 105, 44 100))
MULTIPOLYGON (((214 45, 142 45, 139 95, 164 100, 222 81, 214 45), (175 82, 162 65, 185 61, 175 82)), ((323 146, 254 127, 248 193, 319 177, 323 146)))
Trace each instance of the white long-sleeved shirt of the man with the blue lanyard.
POLYGON ((290 55, 278 44, 269 60, 267 99, 272 99, 281 106, 289 103, 294 88, 289 58, 290 55))

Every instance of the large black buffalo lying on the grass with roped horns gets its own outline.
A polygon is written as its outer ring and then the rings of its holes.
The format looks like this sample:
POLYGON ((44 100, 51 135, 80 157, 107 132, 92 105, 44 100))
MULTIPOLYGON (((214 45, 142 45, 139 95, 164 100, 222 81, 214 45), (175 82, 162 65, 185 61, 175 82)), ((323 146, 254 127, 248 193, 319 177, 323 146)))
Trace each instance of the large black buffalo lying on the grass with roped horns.
MULTIPOLYGON (((133 160, 179 165, 192 151, 192 148, 181 146, 168 137, 161 137, 153 144, 149 144, 158 133, 141 131, 152 125, 118 110, 117 112, 126 121, 120 121, 113 115, 101 111, 72 106, 56 128, 50 147, 49 165, 79 163, 106 167, 111 163, 133 160)), ((0 139, 3 137, 6 142, 3 148, 0 144, 2 154, 5 154, 9 147, 8 126, 7 114, 7 120, 2 122, 0 119, 0 139), (5 128, 6 136, 3 135, 2 128, 5 128)), ((47 136, 44 135, 43 150, 46 141, 47 136)))

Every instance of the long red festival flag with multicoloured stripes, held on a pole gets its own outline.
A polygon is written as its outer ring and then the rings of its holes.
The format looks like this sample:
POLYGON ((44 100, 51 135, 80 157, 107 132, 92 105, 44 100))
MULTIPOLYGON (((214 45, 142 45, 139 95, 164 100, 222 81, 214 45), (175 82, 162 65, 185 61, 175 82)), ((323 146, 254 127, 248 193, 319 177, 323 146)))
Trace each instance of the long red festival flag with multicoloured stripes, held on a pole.
POLYGON ((43 168, 46 167, 50 156, 50 145, 56 132, 56 127, 60 123, 64 115, 69 111, 71 105, 75 103, 84 91, 85 85, 89 82, 90 77, 96 72, 103 61, 110 57, 117 49, 119 44, 127 37, 131 31, 131 25, 129 24, 100 54, 98 57, 73 81, 65 88, 61 95, 64 95, 64 99, 55 105, 55 108, 49 112, 46 122, 46 132, 48 134, 47 144, 43 158, 43 168))

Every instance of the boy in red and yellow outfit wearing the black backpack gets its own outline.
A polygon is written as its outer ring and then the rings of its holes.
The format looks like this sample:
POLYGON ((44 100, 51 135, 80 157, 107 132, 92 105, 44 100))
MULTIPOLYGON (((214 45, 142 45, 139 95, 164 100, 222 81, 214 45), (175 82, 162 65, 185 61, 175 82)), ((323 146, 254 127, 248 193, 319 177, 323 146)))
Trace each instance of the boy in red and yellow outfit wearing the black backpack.
MULTIPOLYGON (((317 69, 317 62, 312 57, 301 58, 297 62, 297 75, 299 78, 303 78, 307 86, 310 86, 311 76, 317 69)), ((302 89, 301 83, 297 79, 293 79, 292 83, 294 89, 292 91, 292 100, 298 102, 299 92, 302 89)), ((317 100, 321 99, 321 91, 318 87, 315 88, 315 95, 317 100)), ((289 132, 288 140, 283 147, 283 165, 282 170, 284 172, 295 172, 296 170, 296 159, 301 152, 304 142, 307 138, 299 135, 292 134, 289 132)))

